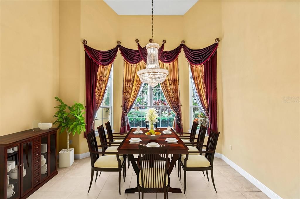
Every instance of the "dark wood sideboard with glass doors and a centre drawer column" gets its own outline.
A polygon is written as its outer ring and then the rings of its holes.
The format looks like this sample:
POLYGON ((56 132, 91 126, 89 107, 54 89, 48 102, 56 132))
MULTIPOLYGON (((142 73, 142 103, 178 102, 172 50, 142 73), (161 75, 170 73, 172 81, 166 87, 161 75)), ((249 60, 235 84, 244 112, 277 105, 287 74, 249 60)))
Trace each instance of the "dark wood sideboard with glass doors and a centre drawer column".
POLYGON ((14 194, 10 199, 27 198, 58 174, 56 133, 57 128, 30 129, 0 137, 1 199, 9 198, 7 193, 14 194), (14 163, 14 169, 7 169, 7 163, 14 163))

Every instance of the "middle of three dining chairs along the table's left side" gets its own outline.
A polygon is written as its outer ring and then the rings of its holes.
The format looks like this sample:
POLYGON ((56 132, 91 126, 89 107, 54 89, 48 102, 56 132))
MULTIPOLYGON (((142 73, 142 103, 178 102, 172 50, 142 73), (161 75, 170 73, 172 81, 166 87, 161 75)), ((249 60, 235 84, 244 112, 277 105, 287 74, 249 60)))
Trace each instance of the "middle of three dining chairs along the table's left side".
MULTIPOLYGON (((98 129, 98 133, 99 133, 99 139, 100 139, 100 143, 101 143, 101 149, 102 151, 105 152, 118 152, 118 147, 120 145, 120 143, 115 143, 115 142, 108 142, 107 140, 109 140, 109 138, 106 137, 105 131, 104 131, 104 126, 101 124, 100 126, 97 127, 98 129)), ((104 155, 111 155, 110 153, 104 154, 104 155)), ((125 159, 126 159, 126 155, 125 155, 125 159)), ((126 164, 124 165, 124 181, 125 181, 125 177, 126 177, 126 164)), ((98 175, 98 173, 97 173, 98 175)), ((99 176, 101 175, 101 172, 99 174, 99 176)))

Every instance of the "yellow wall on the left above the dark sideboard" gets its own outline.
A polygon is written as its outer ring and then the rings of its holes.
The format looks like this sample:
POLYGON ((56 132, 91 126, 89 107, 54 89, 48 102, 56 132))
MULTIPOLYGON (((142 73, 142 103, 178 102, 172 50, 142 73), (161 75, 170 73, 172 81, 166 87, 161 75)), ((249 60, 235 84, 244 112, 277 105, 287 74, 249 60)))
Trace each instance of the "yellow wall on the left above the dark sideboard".
POLYGON ((1 1, 1 135, 54 121, 58 9, 58 1, 1 1))

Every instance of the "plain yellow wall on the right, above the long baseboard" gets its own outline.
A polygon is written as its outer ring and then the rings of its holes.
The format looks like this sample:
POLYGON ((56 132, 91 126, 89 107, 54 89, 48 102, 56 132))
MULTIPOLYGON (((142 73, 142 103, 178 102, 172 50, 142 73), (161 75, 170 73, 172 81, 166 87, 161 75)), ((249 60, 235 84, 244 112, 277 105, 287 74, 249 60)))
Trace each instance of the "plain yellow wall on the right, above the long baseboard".
POLYGON ((299 1, 222 2, 223 155, 299 195, 299 1), (232 145, 232 150, 229 150, 232 145))

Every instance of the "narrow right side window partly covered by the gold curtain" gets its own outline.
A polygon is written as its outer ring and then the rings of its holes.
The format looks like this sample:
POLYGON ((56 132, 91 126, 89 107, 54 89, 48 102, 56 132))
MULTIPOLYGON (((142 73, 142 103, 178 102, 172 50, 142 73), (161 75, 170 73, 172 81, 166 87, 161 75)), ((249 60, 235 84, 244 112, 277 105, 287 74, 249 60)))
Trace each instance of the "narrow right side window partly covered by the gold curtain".
MULTIPOLYGON (((192 85, 192 79, 191 79, 191 73, 190 73, 190 127, 193 125, 193 121, 195 119, 198 119, 200 124, 203 123, 205 125, 208 124, 208 117, 206 117, 201 109, 198 106, 198 103, 196 101, 195 92, 192 85)), ((200 125, 197 127, 200 128, 200 125)))

